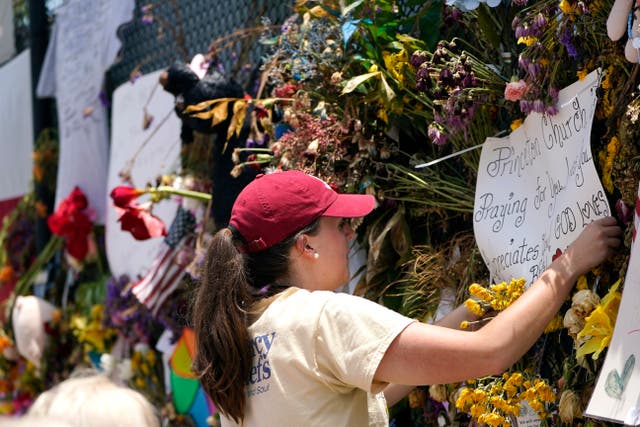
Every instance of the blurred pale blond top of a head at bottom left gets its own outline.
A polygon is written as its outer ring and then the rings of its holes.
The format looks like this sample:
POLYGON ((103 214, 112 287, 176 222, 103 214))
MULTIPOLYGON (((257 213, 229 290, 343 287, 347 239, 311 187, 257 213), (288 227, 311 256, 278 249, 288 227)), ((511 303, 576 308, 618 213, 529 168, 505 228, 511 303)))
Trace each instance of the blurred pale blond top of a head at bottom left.
POLYGON ((160 427, 156 410, 139 392, 104 374, 71 377, 45 391, 28 417, 46 417, 73 427, 160 427))

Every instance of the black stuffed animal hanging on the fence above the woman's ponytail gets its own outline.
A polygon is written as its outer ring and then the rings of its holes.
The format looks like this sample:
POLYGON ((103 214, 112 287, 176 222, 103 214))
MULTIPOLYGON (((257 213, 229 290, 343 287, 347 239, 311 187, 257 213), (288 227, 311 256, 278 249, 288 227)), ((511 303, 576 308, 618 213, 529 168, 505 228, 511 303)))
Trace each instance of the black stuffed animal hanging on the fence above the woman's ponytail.
MULTIPOLYGON (((226 227, 231 216, 231 207, 240 191, 254 177, 255 172, 246 171, 238 178, 231 176, 234 167, 231 158, 235 148, 244 147, 249 134, 249 126, 243 126, 239 136, 227 141, 227 129, 233 116, 233 103, 229 103, 227 120, 211 126, 210 119, 199 119, 184 114, 188 105, 219 98, 242 98, 242 86, 231 78, 220 73, 216 67, 209 67, 207 73, 200 77, 188 64, 176 61, 160 74, 160 84, 175 96, 175 112, 182 121, 180 138, 182 144, 190 144, 194 140, 194 132, 213 135, 214 147, 210 159, 210 178, 212 180, 213 209, 212 216, 216 228, 226 227)), ((248 116, 248 115, 247 115, 248 116)))

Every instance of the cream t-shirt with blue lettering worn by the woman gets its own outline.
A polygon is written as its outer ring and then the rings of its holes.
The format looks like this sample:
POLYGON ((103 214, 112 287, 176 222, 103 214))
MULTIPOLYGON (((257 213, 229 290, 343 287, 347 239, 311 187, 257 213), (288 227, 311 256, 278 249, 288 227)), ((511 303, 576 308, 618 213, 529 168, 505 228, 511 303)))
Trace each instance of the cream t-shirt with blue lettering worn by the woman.
POLYGON ((373 377, 412 322, 348 294, 283 292, 249 327, 254 357, 243 425, 387 427, 386 384, 373 377))

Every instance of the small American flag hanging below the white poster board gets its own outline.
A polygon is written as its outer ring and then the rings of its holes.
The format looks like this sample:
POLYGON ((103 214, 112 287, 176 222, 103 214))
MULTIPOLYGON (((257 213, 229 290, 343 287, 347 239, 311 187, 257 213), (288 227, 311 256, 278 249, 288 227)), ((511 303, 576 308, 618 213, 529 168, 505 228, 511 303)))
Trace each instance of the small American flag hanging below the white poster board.
POLYGON ((184 253, 194 245, 195 224, 193 214, 180 206, 151 268, 132 286, 133 294, 154 316, 178 287, 184 269, 191 261, 185 259, 184 253))

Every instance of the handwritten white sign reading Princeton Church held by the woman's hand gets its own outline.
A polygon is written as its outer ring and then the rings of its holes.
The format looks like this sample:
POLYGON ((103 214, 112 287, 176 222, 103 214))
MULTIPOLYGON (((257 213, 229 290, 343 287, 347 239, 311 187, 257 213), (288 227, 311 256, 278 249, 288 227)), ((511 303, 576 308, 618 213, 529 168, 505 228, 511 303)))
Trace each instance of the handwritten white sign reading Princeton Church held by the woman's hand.
POLYGON ((473 228, 495 282, 535 280, 610 208, 591 155, 599 71, 560 91, 559 113, 532 113, 505 138, 487 138, 473 228))

